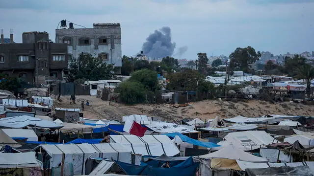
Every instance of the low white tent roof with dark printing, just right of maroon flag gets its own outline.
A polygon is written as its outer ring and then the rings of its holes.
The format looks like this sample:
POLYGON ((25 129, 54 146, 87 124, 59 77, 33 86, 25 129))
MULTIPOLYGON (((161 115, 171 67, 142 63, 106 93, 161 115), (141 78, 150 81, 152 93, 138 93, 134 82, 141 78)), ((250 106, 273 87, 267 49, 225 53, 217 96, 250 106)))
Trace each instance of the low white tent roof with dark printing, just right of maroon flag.
POLYGON ((146 125, 146 127, 153 130, 154 132, 159 132, 159 133, 172 133, 172 132, 193 133, 193 132, 198 132, 195 130, 184 128, 183 126, 173 124, 173 123, 146 125))

